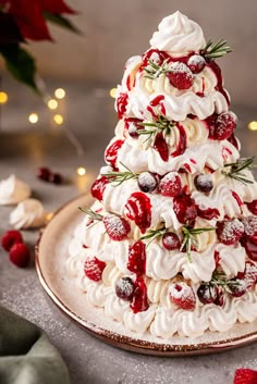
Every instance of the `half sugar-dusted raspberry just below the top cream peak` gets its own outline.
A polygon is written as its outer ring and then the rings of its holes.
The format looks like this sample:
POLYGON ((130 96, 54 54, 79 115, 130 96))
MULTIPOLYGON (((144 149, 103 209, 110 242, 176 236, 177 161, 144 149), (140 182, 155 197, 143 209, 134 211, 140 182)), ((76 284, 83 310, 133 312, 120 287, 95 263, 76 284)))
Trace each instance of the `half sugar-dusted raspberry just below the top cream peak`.
POLYGON ((170 72, 167 73, 167 76, 173 87, 181 90, 192 87, 194 75, 184 63, 176 61, 169 66, 169 71, 170 72))

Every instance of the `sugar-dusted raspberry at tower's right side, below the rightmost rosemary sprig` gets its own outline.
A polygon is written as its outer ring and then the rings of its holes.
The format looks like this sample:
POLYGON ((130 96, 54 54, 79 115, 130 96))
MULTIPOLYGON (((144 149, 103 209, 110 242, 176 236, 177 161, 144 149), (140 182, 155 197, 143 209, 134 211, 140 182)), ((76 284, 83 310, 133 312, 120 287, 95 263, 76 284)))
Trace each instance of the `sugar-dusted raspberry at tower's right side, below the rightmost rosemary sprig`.
POLYGON ((218 222, 216 232, 221 243, 232 245, 241 239, 244 233, 244 225, 237 219, 218 222))

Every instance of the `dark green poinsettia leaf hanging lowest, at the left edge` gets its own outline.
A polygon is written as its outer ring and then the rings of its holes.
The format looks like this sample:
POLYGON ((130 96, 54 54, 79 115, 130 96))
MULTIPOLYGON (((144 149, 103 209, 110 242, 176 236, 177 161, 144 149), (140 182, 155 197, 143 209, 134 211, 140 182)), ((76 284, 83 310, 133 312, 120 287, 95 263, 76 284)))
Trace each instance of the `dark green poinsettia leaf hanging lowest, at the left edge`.
POLYGON ((17 44, 0 45, 0 52, 11 74, 19 82, 33 88, 37 94, 40 94, 35 80, 37 69, 30 53, 17 44))

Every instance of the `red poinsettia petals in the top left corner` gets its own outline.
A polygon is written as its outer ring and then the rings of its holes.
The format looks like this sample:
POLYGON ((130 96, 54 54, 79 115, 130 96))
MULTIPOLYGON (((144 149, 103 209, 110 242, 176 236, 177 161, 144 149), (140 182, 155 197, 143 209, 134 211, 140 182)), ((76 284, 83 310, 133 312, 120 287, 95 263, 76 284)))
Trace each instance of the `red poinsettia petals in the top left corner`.
POLYGON ((30 40, 52 40, 44 12, 75 13, 63 0, 0 0, 0 4, 13 16, 22 36, 30 40))

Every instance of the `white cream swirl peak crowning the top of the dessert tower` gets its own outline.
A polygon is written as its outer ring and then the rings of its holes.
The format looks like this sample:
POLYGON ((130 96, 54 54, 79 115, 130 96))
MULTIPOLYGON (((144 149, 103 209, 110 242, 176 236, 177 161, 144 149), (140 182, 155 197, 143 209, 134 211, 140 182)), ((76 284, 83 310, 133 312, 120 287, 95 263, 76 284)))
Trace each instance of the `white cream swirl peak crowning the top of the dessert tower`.
POLYGON ((173 55, 186 54, 205 48, 200 26, 179 11, 164 17, 150 39, 150 46, 173 55))

